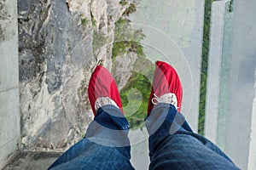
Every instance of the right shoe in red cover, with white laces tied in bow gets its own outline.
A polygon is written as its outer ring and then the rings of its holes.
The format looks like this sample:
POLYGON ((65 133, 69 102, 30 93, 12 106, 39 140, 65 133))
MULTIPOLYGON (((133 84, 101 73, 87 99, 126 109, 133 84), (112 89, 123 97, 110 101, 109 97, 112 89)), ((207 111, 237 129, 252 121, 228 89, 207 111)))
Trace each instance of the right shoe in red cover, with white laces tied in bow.
POLYGON ((172 104, 181 111, 183 88, 175 69, 166 62, 155 62, 152 90, 148 99, 148 114, 154 105, 159 103, 172 104))

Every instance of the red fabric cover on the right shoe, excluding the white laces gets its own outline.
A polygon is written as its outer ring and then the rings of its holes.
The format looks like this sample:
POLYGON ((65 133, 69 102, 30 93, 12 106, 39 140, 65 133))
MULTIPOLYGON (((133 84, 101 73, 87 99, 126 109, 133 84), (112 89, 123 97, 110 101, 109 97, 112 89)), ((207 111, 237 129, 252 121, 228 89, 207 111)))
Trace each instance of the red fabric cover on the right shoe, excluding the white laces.
POLYGON ((166 62, 155 62, 154 79, 152 83, 152 90, 148 100, 148 114, 154 108, 152 98, 160 97, 163 94, 172 93, 177 97, 177 111, 181 111, 183 88, 175 69, 166 62))

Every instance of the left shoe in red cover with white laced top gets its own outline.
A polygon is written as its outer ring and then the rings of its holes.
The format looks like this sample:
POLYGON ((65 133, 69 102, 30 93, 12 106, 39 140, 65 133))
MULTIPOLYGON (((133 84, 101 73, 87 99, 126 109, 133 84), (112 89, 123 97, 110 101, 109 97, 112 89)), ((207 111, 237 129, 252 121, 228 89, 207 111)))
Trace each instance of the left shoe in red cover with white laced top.
POLYGON ((111 73, 101 65, 97 65, 90 77, 88 96, 91 109, 96 111, 103 105, 114 105, 124 114, 119 90, 111 73))

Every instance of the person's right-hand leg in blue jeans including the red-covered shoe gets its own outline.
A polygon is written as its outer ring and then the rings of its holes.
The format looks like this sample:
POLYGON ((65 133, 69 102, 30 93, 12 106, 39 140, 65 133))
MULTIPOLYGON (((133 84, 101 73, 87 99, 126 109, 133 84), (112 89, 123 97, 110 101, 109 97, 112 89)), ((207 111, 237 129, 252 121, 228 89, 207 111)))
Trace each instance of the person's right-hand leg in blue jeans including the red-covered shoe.
POLYGON ((215 144, 192 132, 178 112, 181 111, 182 95, 177 72, 165 62, 156 62, 146 117, 149 168, 237 169, 215 144))

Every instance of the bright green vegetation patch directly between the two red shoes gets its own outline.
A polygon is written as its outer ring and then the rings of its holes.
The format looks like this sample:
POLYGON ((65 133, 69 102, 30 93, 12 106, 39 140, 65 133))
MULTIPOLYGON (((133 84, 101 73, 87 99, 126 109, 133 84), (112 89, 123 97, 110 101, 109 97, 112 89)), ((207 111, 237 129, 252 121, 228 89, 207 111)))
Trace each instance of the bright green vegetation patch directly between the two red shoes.
POLYGON ((149 80, 154 76, 154 63, 142 55, 138 56, 133 67, 129 81, 120 91, 120 97, 131 128, 137 128, 143 125, 148 110, 152 86, 149 80))

